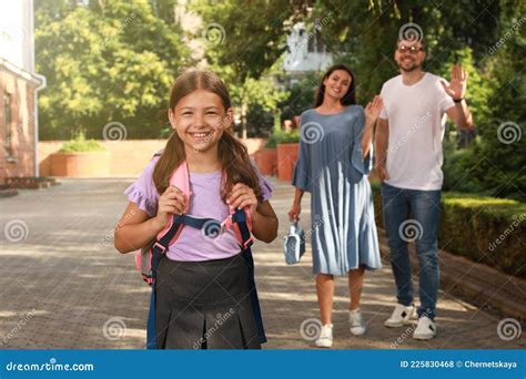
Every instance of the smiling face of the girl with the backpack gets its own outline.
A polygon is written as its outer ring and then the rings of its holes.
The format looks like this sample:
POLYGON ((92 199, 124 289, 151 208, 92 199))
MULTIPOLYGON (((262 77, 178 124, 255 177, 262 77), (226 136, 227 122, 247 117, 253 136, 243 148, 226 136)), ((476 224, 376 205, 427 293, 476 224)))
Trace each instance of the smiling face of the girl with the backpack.
POLYGON ((206 152, 218 144, 223 131, 232 124, 233 110, 225 110, 215 93, 195 90, 169 111, 169 117, 185 147, 206 152))

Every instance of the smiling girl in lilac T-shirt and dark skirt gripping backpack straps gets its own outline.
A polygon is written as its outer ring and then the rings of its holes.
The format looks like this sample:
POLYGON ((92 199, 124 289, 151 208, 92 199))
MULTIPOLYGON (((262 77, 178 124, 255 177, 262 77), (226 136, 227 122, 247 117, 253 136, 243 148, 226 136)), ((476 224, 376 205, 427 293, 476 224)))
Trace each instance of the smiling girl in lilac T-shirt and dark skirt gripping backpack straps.
MULTIPOLYGON (((115 248, 140 249, 172 214, 225 219, 245 209, 252 234, 266 243, 277 234, 269 203, 272 187, 251 162, 230 127, 233 109, 226 86, 212 72, 188 71, 170 94, 174 130, 161 156, 152 160, 125 191, 130 203, 115 227, 115 248), (186 162, 190 196, 170 185, 186 162)), ((232 229, 213 237, 184 226, 159 265, 155 294, 155 344, 166 349, 260 348, 252 311, 250 267, 232 229)))

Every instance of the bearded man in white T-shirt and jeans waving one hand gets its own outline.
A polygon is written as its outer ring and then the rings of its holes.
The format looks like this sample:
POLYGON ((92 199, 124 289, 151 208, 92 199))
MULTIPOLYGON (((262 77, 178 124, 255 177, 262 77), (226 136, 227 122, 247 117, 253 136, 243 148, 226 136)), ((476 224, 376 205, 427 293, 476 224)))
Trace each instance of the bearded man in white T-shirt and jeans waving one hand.
POLYGON ((464 100, 467 74, 452 69, 451 82, 422 70, 423 39, 398 40, 395 61, 401 75, 384 83, 384 109, 376 127, 376 171, 382 183, 385 231, 396 281, 397 305, 387 327, 418 324, 413 337, 436 335, 435 308, 439 284, 438 226, 441 218, 442 141, 447 116, 459 127, 473 122, 464 100), (413 305, 407 242, 415 240, 421 306, 413 305))

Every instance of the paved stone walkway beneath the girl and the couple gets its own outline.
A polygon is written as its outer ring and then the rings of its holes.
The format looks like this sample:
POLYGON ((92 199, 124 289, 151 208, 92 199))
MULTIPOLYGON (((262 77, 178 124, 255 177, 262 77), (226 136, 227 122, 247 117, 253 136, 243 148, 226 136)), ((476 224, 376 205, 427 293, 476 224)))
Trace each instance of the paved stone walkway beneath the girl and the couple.
MULTIPOLYGON (((8 349, 140 349, 144 346, 149 287, 134 269, 133 254, 113 248, 113 227, 127 205, 125 178, 63 180, 43 191, 0 198, 0 345, 8 349)), ((311 254, 286 266, 283 236, 293 188, 274 181, 272 205, 280 234, 254 247, 256 281, 269 336, 266 349, 310 349, 302 322, 317 319, 311 254)), ((301 224, 307 231, 308 196, 301 224)), ((385 254, 385 252, 383 252, 385 254)), ((385 259, 384 259, 385 262, 385 259)), ((346 278, 336 278, 336 349, 524 349, 523 336, 504 340, 490 314, 441 293, 438 336, 415 341, 407 328, 383 321, 394 304, 391 268, 367 273, 362 308, 367 334, 348 331, 346 278), (407 332, 405 332, 407 331, 407 332)))

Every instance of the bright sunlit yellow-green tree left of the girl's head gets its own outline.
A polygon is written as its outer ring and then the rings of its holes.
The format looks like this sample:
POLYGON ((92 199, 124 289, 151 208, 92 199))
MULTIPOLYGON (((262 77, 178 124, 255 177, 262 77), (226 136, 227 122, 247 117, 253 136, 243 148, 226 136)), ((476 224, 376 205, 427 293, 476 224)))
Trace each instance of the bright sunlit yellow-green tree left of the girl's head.
POLYGON ((111 121, 122 122, 131 139, 159 136, 170 86, 189 62, 173 17, 159 17, 148 0, 38 1, 36 54, 37 71, 48 79, 40 96, 43 140, 79 130, 101 139, 111 121))

